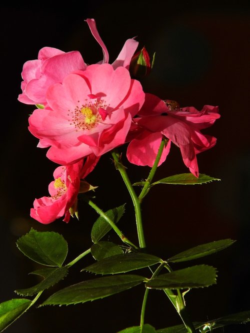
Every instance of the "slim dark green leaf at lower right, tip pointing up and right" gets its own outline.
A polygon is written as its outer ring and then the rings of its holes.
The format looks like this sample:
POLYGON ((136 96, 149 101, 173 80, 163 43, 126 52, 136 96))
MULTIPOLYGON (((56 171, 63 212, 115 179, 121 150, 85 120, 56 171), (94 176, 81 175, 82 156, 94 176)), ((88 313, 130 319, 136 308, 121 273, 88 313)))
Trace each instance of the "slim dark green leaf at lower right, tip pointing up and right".
POLYGON ((178 253, 177 255, 167 259, 170 263, 179 263, 182 261, 193 260, 204 256, 211 255, 215 252, 221 251, 228 246, 232 245, 235 241, 231 239, 223 239, 202 245, 195 246, 189 250, 178 253))

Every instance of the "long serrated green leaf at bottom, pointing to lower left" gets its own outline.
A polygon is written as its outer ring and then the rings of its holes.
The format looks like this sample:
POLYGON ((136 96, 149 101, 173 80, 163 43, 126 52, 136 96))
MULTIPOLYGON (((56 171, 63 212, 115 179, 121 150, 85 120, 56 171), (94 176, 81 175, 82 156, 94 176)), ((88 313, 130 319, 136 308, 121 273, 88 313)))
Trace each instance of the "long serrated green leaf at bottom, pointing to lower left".
POLYGON ((69 305, 102 299, 132 288, 144 281, 138 275, 115 275, 87 280, 51 295, 43 305, 69 305))

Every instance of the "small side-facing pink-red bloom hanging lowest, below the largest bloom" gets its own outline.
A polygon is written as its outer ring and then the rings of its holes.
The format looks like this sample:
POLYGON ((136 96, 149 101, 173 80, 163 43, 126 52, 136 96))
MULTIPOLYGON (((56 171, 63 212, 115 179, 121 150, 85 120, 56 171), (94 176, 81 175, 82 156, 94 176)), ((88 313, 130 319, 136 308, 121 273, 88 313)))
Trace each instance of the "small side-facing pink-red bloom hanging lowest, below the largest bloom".
MULTIPOLYGON (((98 158, 89 155, 84 164, 82 159, 74 164, 57 167, 53 173, 54 180, 48 185, 50 196, 35 199, 30 216, 42 224, 51 223, 63 216, 63 221, 68 222, 70 215, 77 212, 77 195, 82 192, 80 178, 85 178, 97 162, 98 158)), ((94 187, 89 186, 91 188, 94 187)))

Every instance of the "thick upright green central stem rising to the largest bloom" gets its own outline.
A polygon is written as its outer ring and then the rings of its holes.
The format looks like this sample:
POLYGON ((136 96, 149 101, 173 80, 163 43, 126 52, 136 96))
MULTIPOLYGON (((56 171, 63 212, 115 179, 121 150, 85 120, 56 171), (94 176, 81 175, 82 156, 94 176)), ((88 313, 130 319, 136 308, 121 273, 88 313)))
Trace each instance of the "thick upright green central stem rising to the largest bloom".
POLYGON ((141 218, 141 209, 140 209, 140 201, 133 189, 133 186, 127 176, 126 170, 124 165, 120 162, 119 158, 120 155, 115 152, 112 151, 112 157, 114 159, 115 162, 115 167, 116 169, 119 171, 125 185, 126 188, 130 194, 130 197, 132 199, 133 202, 133 206, 134 206, 134 212, 135 212, 135 220, 136 220, 136 228, 137 228, 137 235, 138 235, 138 240, 139 240, 139 247, 145 248, 146 247, 146 243, 145 243, 145 238, 144 238, 144 233, 143 233, 143 227, 142 227, 142 218, 141 218))

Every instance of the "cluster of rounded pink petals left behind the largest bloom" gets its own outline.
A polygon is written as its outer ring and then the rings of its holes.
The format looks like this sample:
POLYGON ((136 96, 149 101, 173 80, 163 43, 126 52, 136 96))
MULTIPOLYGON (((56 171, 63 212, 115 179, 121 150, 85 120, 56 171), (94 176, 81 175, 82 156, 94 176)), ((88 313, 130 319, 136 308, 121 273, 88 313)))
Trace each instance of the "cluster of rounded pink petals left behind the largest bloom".
POLYGON ((65 75, 74 70, 84 70, 80 52, 63 52, 53 47, 43 47, 38 52, 37 60, 26 61, 21 76, 22 93, 18 100, 25 104, 46 104, 47 88, 57 82, 62 82, 65 75))

